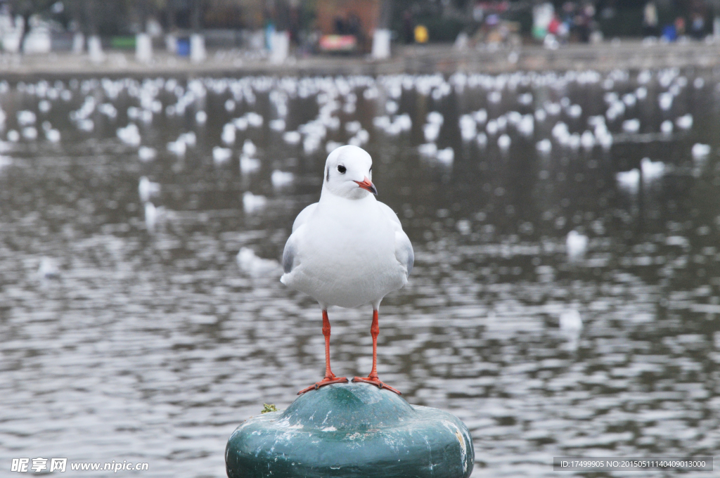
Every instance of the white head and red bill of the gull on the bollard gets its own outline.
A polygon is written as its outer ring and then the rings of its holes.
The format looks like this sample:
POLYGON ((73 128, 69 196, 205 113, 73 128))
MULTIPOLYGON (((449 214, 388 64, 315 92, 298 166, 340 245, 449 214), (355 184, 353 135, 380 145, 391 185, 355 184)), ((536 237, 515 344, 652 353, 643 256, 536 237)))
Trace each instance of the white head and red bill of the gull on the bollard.
POLYGON ((325 161, 323 189, 347 199, 362 199, 377 194, 372 184, 372 158, 357 146, 341 146, 325 161))

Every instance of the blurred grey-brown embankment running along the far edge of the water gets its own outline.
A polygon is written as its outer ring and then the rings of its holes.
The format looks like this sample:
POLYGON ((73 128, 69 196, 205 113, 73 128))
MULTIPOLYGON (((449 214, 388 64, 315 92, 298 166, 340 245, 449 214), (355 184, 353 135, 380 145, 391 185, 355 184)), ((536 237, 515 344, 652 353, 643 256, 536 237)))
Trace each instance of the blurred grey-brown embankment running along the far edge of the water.
POLYGON ((102 62, 88 55, 0 55, 0 78, 24 81, 32 78, 82 76, 245 76, 245 75, 382 75, 397 73, 508 73, 512 71, 610 71, 616 68, 713 68, 720 65, 716 42, 647 44, 639 40, 603 42, 596 45, 561 45, 549 50, 541 45, 500 45, 458 50, 450 44, 397 45, 392 57, 374 60, 367 56, 290 56, 272 64, 263 55, 247 50, 210 50, 202 63, 192 63, 165 51, 153 53, 150 62, 135 60, 134 50, 107 50, 102 62))

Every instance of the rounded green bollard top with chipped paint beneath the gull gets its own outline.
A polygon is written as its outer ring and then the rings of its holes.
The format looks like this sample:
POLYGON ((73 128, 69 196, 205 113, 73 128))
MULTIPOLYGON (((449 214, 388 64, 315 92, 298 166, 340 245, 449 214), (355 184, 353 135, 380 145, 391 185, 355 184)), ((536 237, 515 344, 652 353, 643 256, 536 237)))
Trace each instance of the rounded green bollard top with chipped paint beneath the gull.
POLYGON ((474 449, 453 415, 370 384, 333 384, 246 420, 225 448, 229 478, 467 478, 474 449))

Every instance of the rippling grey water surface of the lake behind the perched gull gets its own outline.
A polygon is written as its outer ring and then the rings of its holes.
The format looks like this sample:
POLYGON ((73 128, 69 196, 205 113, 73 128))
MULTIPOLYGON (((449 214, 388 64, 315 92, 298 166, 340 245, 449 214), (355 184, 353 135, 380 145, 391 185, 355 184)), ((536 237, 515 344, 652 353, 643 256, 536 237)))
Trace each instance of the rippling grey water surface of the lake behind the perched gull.
MULTIPOLYGON (((0 84, 3 466, 224 476, 235 426, 321 376, 320 310, 276 261, 348 142, 415 246, 381 307, 380 375, 467 423, 474 477, 713 454, 718 79, 0 84), (160 186, 146 204, 142 176, 160 186)), ((370 319, 330 310, 336 372, 369 370, 370 319)))

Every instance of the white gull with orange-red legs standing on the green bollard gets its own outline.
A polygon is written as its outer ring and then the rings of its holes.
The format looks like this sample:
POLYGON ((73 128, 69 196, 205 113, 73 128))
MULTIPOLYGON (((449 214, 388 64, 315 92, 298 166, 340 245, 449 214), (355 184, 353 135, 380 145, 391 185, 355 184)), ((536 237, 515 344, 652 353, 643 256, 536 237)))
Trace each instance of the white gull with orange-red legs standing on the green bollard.
POLYGON ((372 305, 372 371, 353 382, 374 384, 400 394, 377 376, 378 309, 390 292, 408 283, 415 254, 400 220, 377 201, 372 158, 352 145, 333 150, 325 162, 320 201, 302 209, 285 244, 280 281, 310 295, 323 311, 325 378, 298 394, 345 383, 330 369, 328 307, 372 305))

